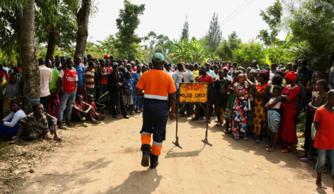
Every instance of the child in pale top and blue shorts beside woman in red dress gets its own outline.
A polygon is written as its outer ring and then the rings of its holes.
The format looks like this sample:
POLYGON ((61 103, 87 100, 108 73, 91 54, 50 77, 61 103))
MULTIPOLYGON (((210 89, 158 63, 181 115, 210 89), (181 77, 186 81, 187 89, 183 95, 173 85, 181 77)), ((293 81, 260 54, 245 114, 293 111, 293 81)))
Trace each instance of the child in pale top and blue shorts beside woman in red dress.
POLYGON ((268 145, 268 152, 276 151, 276 143, 278 141, 278 130, 280 130, 280 105, 282 98, 280 98, 280 87, 273 87, 273 97, 264 107, 268 109, 268 126, 273 134, 271 134, 270 143, 268 145))

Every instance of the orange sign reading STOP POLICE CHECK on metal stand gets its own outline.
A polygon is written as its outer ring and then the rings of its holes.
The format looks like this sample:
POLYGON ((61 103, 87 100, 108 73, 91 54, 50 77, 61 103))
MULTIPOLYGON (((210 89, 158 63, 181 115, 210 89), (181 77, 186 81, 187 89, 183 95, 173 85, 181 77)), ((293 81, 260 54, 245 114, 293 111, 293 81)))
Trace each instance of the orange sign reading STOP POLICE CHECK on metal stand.
POLYGON ((180 103, 207 103, 207 83, 180 83, 180 103))

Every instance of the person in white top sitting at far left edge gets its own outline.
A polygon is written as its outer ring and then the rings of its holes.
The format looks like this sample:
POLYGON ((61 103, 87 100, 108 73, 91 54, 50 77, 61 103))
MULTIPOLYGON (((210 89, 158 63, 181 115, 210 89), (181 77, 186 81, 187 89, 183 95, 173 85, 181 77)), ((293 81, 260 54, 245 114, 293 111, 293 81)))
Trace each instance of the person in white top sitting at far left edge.
POLYGON ((26 116, 21 107, 19 107, 19 100, 13 99, 10 101, 10 114, 0 121, 0 136, 6 136, 7 138, 16 136, 19 124, 17 121, 26 116))

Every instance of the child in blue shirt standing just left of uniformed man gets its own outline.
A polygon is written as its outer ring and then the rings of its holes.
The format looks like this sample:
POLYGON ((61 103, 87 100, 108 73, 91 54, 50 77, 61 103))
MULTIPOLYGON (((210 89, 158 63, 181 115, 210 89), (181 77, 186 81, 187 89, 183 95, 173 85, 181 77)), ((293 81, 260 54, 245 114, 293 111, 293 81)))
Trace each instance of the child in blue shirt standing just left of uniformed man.
POLYGON ((131 107, 130 115, 134 114, 134 80, 131 76, 131 71, 125 73, 125 87, 124 87, 124 103, 131 107))

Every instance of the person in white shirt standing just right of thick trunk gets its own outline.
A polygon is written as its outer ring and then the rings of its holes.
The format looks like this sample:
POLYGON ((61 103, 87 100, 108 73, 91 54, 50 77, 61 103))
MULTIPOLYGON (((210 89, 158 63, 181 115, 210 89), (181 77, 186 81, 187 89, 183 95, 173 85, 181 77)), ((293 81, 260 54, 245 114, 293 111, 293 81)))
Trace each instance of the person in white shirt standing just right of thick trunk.
MULTIPOLYGON (((47 59, 49 60, 49 59, 47 59)), ((52 80, 52 70, 45 66, 45 60, 38 59, 38 64, 40 68, 40 103, 44 106, 44 111, 49 112, 49 82, 52 80)))

